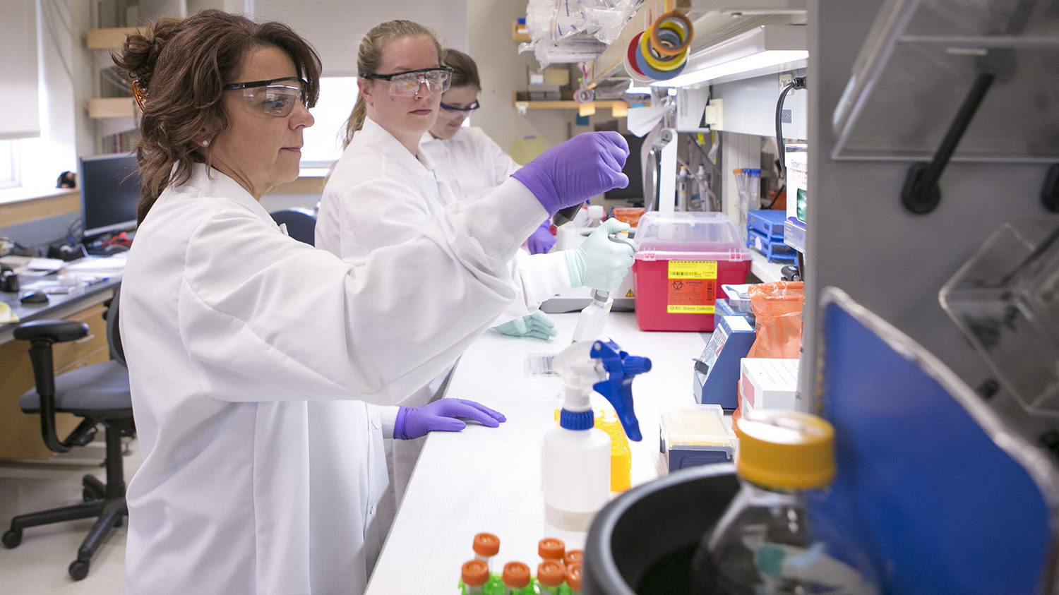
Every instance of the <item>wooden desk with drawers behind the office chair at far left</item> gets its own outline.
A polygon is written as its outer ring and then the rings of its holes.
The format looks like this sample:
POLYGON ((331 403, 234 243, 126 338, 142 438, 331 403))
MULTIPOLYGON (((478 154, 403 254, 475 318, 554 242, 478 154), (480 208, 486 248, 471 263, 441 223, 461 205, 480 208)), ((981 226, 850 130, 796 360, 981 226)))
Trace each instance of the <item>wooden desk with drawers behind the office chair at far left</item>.
MULTIPOLYGON (((20 304, 18 298, 21 292, 0 292, 0 301, 11 306, 20 322, 66 319, 89 325, 89 335, 85 339, 55 345, 53 359, 56 374, 110 358, 102 304, 114 294, 114 289, 121 284, 122 271, 79 269, 75 274, 100 281, 91 285, 80 284, 69 293, 51 294, 47 304, 20 304), (107 278, 104 281, 103 277, 107 278)), ((19 276, 23 287, 40 281, 56 281, 55 274, 43 277, 19 276)), ((14 340, 16 326, 17 324, 0 325, 0 362, 3 362, 0 366, 0 458, 48 459, 53 453, 41 440, 39 418, 18 409, 18 398, 34 386, 34 380, 29 344, 14 340)), ((66 435, 77 422, 78 419, 72 415, 56 415, 59 435, 66 435)))

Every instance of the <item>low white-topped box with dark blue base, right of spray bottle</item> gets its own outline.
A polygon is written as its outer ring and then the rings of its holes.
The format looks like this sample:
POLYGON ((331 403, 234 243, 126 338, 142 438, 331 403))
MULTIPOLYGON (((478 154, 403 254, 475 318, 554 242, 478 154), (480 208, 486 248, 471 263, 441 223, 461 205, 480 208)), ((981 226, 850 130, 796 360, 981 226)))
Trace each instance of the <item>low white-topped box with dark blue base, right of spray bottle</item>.
POLYGON ((696 465, 731 463, 735 436, 716 404, 671 407, 659 417, 659 450, 670 472, 696 465))

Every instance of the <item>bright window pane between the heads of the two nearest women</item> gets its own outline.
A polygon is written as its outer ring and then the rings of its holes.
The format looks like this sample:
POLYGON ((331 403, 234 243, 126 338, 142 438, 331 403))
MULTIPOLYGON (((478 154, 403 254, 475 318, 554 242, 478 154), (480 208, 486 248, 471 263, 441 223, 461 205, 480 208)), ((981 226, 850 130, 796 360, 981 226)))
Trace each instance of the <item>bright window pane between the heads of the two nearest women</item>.
MULTIPOLYGON (((316 123, 305 129, 302 147, 302 175, 307 170, 330 167, 342 155, 345 121, 357 103, 356 76, 323 76, 320 78, 320 100, 313 107, 316 123)), ((325 173, 325 172, 324 172, 325 173)))

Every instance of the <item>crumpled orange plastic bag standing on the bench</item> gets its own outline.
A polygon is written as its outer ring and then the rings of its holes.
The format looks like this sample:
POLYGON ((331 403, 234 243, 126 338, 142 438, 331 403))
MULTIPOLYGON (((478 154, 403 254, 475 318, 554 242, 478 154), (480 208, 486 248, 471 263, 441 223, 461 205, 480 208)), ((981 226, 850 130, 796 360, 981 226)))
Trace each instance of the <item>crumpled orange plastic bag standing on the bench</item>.
POLYGON ((748 358, 797 358, 802 346, 801 281, 777 281, 751 285, 747 290, 754 310, 757 338, 748 358))

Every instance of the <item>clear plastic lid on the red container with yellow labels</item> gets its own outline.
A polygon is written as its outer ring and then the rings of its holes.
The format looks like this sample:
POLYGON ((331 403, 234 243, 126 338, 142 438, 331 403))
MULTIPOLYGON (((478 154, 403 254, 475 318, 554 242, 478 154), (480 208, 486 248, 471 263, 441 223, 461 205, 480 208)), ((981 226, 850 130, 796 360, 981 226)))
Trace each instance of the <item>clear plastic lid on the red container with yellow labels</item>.
POLYGON ((636 226, 636 257, 749 260, 739 228, 721 213, 644 213, 636 226))

